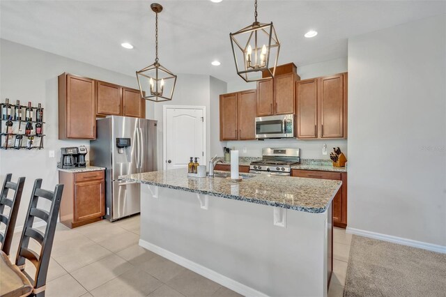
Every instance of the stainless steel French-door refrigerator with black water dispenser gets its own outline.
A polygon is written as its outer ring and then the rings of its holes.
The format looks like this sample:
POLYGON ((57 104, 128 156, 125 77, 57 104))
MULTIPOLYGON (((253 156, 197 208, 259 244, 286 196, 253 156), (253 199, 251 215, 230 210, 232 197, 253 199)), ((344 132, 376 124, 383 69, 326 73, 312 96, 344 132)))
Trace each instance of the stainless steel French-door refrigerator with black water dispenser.
POLYGON ((105 167, 105 218, 110 221, 139 213, 140 184, 118 176, 157 169, 157 121, 107 116, 96 123, 90 162, 105 167))

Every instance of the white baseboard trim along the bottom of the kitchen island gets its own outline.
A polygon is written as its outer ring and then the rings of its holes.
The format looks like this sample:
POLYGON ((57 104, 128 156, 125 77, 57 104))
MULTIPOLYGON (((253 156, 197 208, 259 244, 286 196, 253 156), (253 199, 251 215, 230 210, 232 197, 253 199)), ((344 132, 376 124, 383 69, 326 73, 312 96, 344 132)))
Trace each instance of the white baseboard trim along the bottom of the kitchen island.
POLYGON ((174 254, 173 252, 164 250, 164 248, 160 248, 159 246, 144 241, 142 239, 139 239, 139 245, 145 248, 146 250, 150 250, 155 254, 159 254, 160 256, 169 259, 170 261, 173 261, 178 265, 181 265, 191 271, 194 271, 194 273, 198 273, 199 275, 202 275, 203 277, 206 277, 209 280, 212 280, 213 282, 217 282, 217 284, 221 284, 222 286, 229 288, 232 291, 236 291, 238 294, 242 294, 243 296, 259 296, 259 297, 267 296, 257 291, 256 289, 247 287, 245 286, 245 284, 240 284, 240 282, 237 282, 236 280, 232 280, 231 278, 221 275, 220 273, 210 270, 209 268, 201 266, 200 264, 197 264, 194 261, 185 259, 179 256, 178 254, 174 254))

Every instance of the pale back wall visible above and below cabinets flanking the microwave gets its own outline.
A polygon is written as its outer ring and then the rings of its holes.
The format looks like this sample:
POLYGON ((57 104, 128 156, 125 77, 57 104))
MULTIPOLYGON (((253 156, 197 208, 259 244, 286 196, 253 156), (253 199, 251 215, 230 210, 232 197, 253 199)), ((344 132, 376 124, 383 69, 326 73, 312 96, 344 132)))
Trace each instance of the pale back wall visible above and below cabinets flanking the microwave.
MULTIPOLYGON (((312 77, 321 77, 325 75, 333 75, 336 73, 344 73, 347 71, 347 59, 335 59, 323 61, 307 66, 298 66, 298 75, 300 79, 308 79, 312 77)), ((256 83, 245 82, 238 79, 228 83, 228 93, 243 91, 247 89, 256 89, 256 83)), ((262 148, 264 147, 298 147, 301 148, 301 158, 304 159, 326 159, 330 160, 330 151, 334 146, 339 146, 341 151, 347 156, 347 140, 300 140, 300 139, 271 139, 265 141, 248 140, 243 142, 227 142, 222 143, 223 146, 234 147, 238 149, 241 156, 261 157, 262 148), (322 154, 323 145, 327 144, 328 155, 322 154)), ((222 149, 218 152, 222 155, 222 149)))

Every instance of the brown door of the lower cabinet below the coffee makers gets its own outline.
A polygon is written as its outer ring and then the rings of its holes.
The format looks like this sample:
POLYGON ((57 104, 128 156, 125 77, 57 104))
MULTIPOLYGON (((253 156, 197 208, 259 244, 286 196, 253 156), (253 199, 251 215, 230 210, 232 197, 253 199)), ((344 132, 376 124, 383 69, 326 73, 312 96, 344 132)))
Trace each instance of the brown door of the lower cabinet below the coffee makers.
POLYGON ((105 215, 104 180, 75 185, 75 222, 105 215))

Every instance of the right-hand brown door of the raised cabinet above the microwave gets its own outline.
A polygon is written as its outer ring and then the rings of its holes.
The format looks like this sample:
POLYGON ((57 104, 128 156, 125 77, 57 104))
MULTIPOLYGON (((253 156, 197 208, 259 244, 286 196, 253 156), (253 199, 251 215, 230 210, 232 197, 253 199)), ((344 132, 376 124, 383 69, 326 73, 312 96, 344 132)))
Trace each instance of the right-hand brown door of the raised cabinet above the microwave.
POLYGON ((275 114, 294 114, 294 82, 293 73, 274 78, 275 114))

